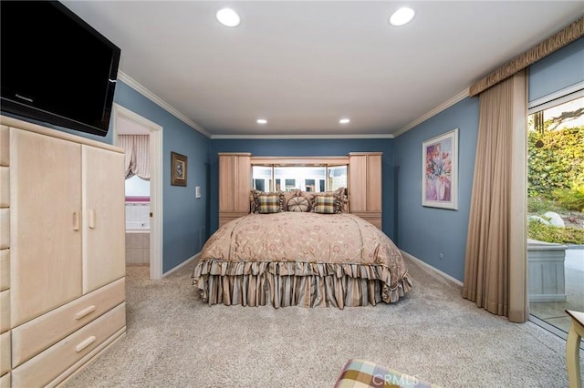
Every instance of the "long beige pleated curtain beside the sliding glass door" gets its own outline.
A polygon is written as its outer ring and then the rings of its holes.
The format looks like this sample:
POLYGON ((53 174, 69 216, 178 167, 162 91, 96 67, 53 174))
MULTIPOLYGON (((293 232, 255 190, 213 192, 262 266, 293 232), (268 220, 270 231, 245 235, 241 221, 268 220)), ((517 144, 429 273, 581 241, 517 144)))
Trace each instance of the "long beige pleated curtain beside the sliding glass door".
POLYGON ((516 203, 511 196, 512 187, 526 186, 525 162, 521 162, 526 158, 521 144, 527 133, 526 96, 524 71, 480 94, 464 263, 463 297, 514 322, 528 317, 525 221, 516 220, 526 217, 521 209, 525 199, 516 203))

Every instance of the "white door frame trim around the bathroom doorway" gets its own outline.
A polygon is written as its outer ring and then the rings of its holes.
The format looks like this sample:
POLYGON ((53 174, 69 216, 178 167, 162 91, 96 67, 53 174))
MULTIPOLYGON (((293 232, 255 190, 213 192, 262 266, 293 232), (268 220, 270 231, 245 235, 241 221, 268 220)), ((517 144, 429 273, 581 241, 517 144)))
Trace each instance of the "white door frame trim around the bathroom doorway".
POLYGON ((114 145, 118 144, 118 117, 150 131, 150 278, 159 280, 162 279, 162 127, 118 104, 113 104, 113 117, 114 145))

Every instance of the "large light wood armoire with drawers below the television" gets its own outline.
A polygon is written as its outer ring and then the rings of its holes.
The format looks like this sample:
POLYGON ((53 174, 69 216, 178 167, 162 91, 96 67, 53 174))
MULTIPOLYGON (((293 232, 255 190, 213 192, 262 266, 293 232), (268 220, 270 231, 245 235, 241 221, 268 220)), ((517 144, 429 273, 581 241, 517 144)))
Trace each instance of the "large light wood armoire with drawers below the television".
POLYGON ((0 117, 0 387, 53 386, 126 332, 124 153, 0 117))

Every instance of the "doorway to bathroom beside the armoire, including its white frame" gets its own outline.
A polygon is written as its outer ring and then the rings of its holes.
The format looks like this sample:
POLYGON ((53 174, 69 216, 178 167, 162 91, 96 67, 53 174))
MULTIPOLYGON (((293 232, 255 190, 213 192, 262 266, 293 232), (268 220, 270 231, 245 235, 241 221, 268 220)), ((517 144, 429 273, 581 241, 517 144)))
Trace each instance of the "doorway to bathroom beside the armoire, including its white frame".
POLYGON ((126 150, 126 265, 162 279, 162 127, 114 104, 114 138, 126 150))

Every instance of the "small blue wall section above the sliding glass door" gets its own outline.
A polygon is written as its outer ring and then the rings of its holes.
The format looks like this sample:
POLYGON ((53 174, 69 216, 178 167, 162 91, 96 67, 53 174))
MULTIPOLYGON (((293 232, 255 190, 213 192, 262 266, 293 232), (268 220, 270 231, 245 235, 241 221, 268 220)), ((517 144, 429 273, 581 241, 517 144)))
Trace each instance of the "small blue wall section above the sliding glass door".
POLYGON ((584 82, 584 37, 529 66, 529 101, 584 82))

